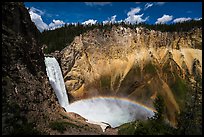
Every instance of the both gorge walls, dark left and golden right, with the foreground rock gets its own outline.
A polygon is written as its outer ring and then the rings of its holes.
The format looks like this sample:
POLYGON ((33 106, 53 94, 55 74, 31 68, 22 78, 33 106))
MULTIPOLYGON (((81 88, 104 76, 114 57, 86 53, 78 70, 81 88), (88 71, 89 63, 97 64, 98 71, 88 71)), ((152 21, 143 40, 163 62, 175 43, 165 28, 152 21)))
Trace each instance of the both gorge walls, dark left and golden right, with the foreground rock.
MULTIPOLYGON (((39 31, 23 3, 3 3, 2 15, 2 134, 62 134, 50 127, 57 124, 66 125, 63 134, 111 134, 61 109, 46 76, 39 31)), ((200 28, 162 33, 113 27, 76 37, 57 58, 71 102, 113 96, 154 109, 161 94, 175 124, 187 85, 202 74, 201 44, 200 28)))

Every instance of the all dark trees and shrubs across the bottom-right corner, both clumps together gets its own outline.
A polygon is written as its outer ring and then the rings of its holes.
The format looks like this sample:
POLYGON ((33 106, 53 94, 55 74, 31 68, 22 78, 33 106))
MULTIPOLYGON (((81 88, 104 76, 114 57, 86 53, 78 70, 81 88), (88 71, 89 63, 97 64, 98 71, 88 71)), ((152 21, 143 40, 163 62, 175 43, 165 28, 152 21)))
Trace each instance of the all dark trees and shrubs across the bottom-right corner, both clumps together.
POLYGON ((146 121, 126 123, 119 127, 119 135, 202 135, 202 96, 201 85, 195 91, 188 92, 185 98, 185 108, 178 115, 178 125, 174 128, 164 119, 164 99, 157 96, 154 106, 155 116, 146 121))

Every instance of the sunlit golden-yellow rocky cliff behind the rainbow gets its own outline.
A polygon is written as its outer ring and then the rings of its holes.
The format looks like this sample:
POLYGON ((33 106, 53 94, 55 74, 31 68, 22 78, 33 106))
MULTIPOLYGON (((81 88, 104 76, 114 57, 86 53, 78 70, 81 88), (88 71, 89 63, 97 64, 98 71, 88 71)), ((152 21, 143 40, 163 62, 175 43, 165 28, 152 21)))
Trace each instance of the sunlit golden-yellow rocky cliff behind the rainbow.
POLYGON ((202 75, 201 49, 201 28, 160 32, 113 26, 75 37, 60 52, 60 61, 72 101, 115 96, 154 109, 160 94, 166 117, 175 125, 188 85, 202 75))

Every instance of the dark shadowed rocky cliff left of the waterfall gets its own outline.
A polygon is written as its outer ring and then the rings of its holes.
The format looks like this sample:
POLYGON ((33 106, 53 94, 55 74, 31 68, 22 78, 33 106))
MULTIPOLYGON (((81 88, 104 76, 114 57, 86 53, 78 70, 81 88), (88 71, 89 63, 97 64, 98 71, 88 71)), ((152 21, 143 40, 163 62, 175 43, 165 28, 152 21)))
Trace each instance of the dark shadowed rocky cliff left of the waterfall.
POLYGON ((59 115, 39 35, 23 3, 2 4, 2 134, 48 134, 59 115))

